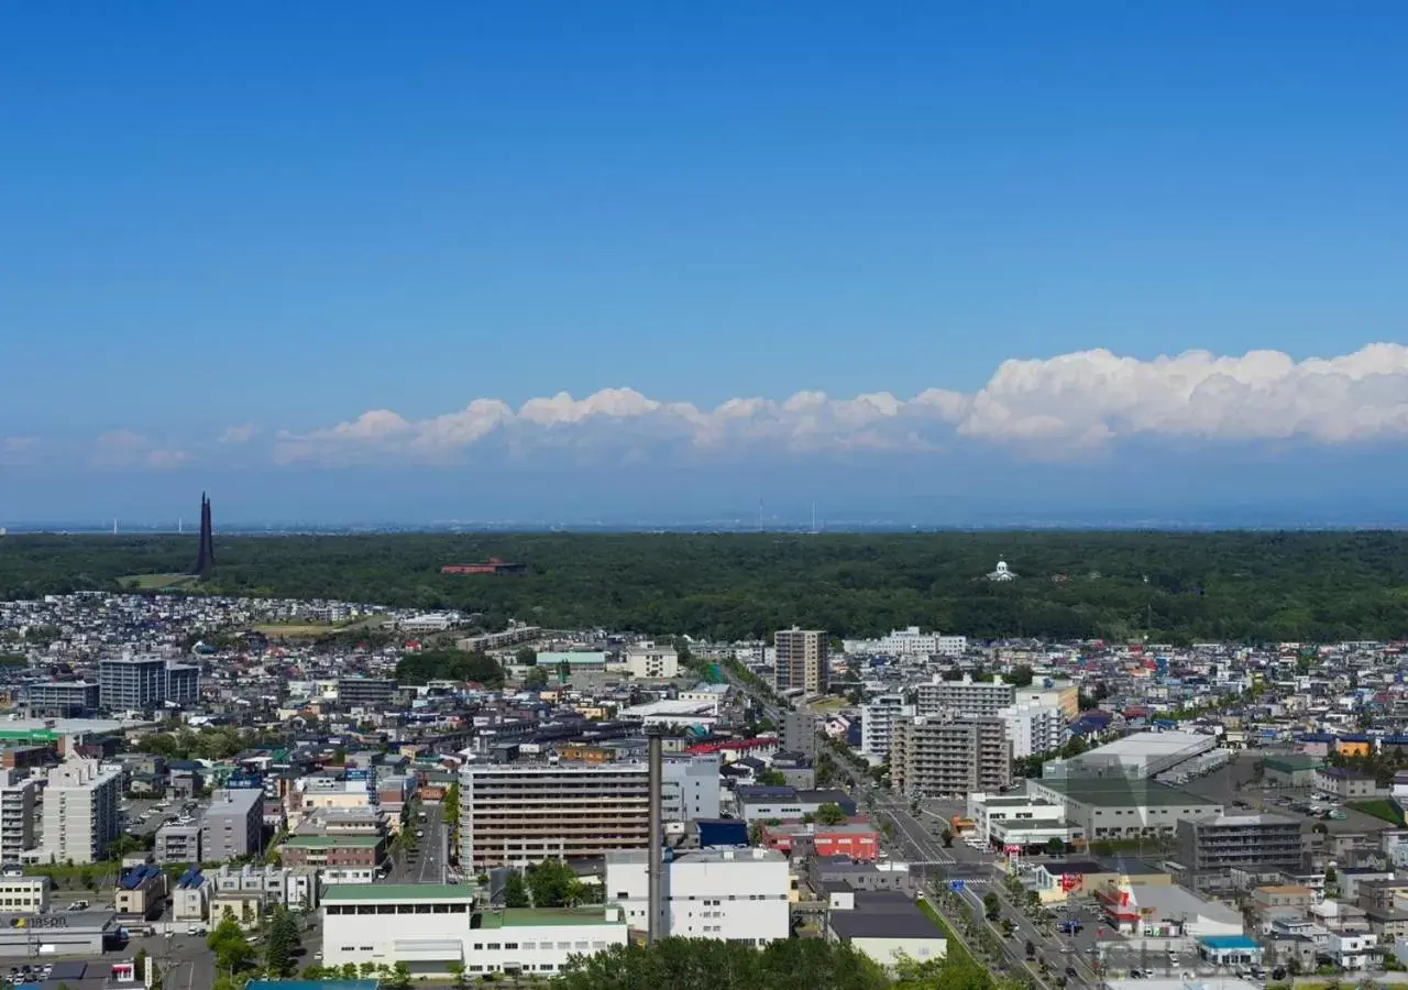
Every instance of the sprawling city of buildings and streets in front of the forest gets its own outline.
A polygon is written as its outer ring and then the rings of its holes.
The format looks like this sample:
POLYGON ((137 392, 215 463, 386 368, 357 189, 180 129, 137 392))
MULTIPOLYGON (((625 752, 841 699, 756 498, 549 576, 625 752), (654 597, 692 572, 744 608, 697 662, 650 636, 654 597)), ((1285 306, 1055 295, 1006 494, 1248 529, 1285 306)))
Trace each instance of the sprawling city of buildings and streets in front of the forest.
POLYGON ((189 589, 0 603, 0 655, 15 986, 594 986, 689 939, 874 986, 1246 990, 1408 952, 1397 642, 711 641, 189 589))

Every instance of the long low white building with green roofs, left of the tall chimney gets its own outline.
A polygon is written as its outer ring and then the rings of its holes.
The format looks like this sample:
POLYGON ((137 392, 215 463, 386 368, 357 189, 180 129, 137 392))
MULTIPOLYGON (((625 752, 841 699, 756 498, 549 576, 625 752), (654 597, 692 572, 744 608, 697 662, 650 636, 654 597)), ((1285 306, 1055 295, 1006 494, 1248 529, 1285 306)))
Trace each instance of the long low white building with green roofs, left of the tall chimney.
POLYGON ((480 910, 473 884, 332 886, 322 894, 322 965, 404 962, 414 979, 552 976, 573 955, 625 945, 614 906, 480 910))

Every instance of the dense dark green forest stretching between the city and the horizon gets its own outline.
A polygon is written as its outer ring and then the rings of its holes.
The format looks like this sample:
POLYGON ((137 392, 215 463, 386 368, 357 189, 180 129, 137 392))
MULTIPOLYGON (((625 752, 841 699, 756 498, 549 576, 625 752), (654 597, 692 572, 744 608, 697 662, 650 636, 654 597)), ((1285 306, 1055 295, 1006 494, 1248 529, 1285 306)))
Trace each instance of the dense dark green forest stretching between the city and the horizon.
MULTIPOLYGON (((180 572, 194 537, 10 535, 0 599, 180 572)), ((756 637, 922 625, 977 638, 1408 635, 1408 534, 389 534, 218 537, 208 593, 455 607, 541 625, 756 637), (500 556, 525 576, 441 575, 500 556), (998 558, 1019 575, 984 580, 998 558)))

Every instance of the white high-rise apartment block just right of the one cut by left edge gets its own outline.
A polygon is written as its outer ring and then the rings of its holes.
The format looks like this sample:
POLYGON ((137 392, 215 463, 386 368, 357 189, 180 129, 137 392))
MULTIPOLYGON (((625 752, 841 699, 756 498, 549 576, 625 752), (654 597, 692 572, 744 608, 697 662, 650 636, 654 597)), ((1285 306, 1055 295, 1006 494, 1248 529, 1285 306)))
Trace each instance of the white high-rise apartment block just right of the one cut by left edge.
POLYGON ((44 853, 56 863, 93 863, 118 837, 122 773, 96 759, 66 759, 44 789, 44 853))

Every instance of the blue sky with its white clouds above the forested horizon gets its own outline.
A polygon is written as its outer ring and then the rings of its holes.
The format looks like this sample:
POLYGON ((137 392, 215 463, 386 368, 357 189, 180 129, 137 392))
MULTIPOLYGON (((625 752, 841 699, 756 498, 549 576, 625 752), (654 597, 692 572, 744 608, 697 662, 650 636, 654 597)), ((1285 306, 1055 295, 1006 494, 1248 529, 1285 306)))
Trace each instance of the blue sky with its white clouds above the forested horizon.
POLYGON ((1397 3, 14 7, 0 524, 353 469, 396 517, 484 465, 857 500, 862 448, 959 494, 1150 438, 1381 458, 1405 42, 1397 3), (1097 348, 1135 362, 1060 361, 1097 348))

